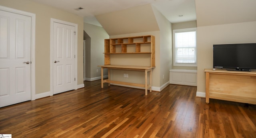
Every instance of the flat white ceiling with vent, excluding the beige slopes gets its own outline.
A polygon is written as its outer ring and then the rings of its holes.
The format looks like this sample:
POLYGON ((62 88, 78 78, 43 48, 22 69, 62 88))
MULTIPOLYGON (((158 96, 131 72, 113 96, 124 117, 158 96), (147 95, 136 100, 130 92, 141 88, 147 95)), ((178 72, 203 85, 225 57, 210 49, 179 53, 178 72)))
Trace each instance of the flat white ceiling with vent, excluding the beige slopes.
POLYGON ((31 0, 84 17, 84 22, 101 26, 95 16, 152 4, 171 23, 196 20, 195 0, 31 0), (82 7, 84 9, 77 10, 82 7), (183 15, 179 17, 179 15, 183 15))

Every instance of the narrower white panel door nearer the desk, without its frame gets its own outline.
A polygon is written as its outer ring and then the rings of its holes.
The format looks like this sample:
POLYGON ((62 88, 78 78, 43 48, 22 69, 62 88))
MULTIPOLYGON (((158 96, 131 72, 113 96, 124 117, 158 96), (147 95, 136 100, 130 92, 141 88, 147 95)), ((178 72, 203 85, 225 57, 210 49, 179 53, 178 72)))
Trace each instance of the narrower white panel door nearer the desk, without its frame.
POLYGON ((75 89, 75 27, 53 24, 53 94, 75 89))

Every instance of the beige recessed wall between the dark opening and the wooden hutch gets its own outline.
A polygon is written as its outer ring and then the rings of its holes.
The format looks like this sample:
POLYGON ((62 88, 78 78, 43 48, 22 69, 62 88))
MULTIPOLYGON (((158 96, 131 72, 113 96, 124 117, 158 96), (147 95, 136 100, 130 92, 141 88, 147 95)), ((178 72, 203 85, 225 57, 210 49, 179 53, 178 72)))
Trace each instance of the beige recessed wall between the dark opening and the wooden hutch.
MULTIPOLYGON (((98 67, 98 65, 104 65, 104 39, 108 39, 109 35, 104 28, 87 23, 84 23, 84 31, 91 38, 90 48, 87 48, 90 49, 90 51, 86 51, 86 53, 90 52, 90 57, 86 56, 86 59, 89 58, 88 60, 90 60, 90 79, 93 79, 101 76, 100 67, 98 67), (98 73, 96 72, 97 69, 98 73)), ((104 75, 108 74, 106 71, 104 71, 104 73, 104 75)))

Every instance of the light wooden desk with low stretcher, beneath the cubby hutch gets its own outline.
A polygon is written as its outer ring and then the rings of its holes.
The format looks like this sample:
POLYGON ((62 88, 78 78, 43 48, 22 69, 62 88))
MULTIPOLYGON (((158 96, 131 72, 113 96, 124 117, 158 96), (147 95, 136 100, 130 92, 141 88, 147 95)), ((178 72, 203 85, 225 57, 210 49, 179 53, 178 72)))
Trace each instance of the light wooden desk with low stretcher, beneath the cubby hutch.
POLYGON ((150 89, 150 92, 152 92, 152 69, 154 67, 124 66, 124 65, 100 65, 98 67, 101 67, 101 88, 103 88, 103 83, 108 83, 108 86, 110 86, 110 83, 114 83, 114 84, 121 84, 121 85, 144 87, 145 95, 148 95, 148 89, 150 89), (103 69, 108 69, 108 79, 103 80, 103 69), (110 69, 145 71, 145 84, 127 83, 127 82, 122 82, 122 81, 112 81, 112 80, 110 80, 110 69), (148 72, 150 72, 149 84, 148 84, 148 72))

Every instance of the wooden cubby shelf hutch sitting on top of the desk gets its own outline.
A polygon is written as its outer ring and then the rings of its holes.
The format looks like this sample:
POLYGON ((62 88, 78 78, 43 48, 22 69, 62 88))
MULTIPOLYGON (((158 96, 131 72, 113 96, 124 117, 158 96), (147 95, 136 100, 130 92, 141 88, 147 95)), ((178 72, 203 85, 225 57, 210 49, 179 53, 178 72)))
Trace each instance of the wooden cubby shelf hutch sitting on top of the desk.
POLYGON ((122 37, 104 40, 104 65, 111 65, 111 54, 150 54, 150 67, 155 67, 155 37, 154 35, 144 35, 135 37, 122 37), (141 45, 149 44, 150 51, 142 51, 141 45), (134 51, 127 51, 127 47, 134 45, 134 51), (117 51, 117 47, 121 47, 121 51, 117 51))

